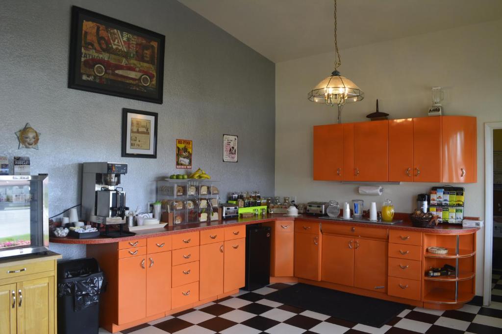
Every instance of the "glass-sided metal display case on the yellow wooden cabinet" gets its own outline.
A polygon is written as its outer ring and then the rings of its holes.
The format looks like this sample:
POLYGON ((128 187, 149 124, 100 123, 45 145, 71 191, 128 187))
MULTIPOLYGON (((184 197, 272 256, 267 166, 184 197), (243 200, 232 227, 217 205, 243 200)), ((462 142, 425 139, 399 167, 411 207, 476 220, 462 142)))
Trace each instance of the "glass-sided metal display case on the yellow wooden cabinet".
POLYGON ((0 176, 0 258, 48 251, 49 178, 0 176))

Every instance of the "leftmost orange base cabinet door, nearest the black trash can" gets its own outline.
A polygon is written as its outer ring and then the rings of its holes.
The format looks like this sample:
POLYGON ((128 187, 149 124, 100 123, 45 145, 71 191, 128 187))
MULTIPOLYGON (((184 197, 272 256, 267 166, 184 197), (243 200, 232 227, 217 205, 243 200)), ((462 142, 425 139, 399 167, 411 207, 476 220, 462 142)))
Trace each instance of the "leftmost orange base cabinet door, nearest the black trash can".
POLYGON ((146 268, 146 255, 118 260, 117 324, 142 319, 146 316, 146 268))

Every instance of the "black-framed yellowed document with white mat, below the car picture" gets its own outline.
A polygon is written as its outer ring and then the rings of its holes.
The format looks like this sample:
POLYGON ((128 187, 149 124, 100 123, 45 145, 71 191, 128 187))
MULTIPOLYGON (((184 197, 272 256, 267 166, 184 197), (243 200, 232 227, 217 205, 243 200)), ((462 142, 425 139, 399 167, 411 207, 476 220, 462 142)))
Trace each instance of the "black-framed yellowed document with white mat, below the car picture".
POLYGON ((122 109, 122 157, 157 158, 158 115, 122 109))

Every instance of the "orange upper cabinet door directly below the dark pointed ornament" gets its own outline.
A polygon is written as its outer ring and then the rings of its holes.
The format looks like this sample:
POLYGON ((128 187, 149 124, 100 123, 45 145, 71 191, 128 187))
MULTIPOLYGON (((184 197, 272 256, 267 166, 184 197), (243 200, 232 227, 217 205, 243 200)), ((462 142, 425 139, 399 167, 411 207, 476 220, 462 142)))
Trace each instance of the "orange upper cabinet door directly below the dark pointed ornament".
POLYGON ((355 181, 389 180, 389 122, 354 123, 355 181))

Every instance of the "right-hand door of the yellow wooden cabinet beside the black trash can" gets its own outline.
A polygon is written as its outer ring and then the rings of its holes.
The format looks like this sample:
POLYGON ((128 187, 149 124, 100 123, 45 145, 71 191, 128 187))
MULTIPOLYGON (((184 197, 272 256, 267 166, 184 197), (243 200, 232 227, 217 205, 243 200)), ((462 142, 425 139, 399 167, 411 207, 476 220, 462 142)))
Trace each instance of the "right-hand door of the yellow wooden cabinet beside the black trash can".
POLYGON ((17 333, 54 333, 54 277, 19 282, 17 289, 17 333))

